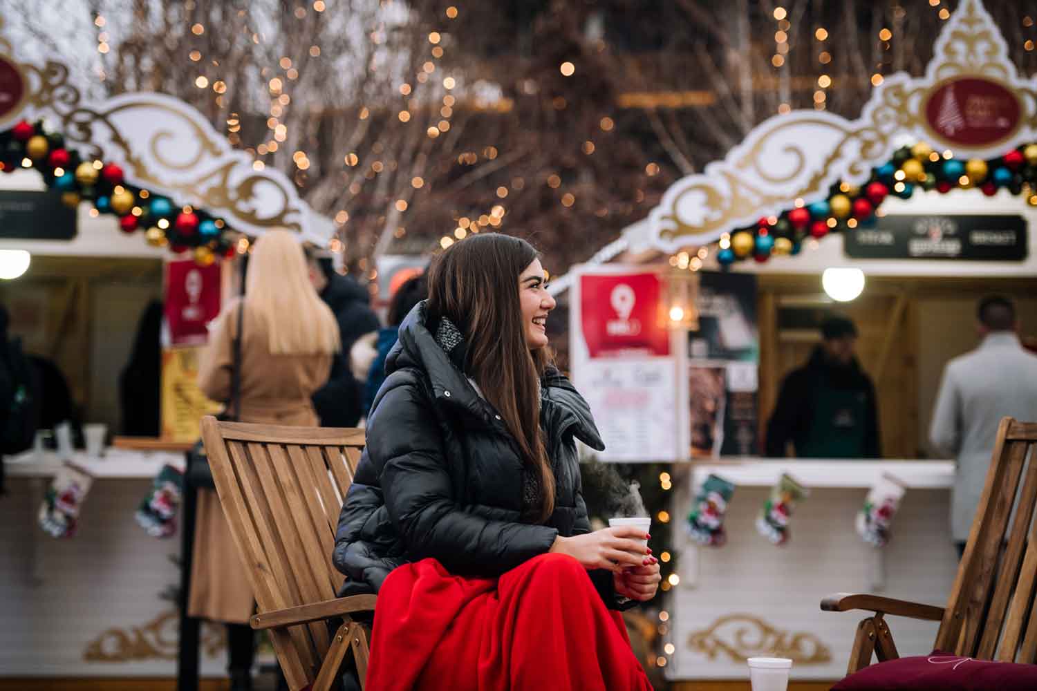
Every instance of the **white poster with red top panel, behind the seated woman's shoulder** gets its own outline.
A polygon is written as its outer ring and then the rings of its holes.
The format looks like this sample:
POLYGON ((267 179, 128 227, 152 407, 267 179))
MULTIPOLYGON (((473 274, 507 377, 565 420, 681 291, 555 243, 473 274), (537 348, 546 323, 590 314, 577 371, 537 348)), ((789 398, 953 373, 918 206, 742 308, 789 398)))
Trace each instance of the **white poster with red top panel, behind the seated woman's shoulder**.
POLYGON ((665 282, 637 266, 573 270, 569 364, 605 441, 600 460, 678 460, 684 348, 668 328, 665 282))

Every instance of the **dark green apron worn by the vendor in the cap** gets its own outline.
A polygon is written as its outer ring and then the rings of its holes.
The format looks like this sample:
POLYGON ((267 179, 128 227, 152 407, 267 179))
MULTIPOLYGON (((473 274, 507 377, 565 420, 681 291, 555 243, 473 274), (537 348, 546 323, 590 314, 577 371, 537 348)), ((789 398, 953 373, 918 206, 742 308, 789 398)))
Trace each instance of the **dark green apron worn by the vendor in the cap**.
POLYGON ((813 420, 795 444, 801 458, 864 458, 867 394, 819 382, 813 394, 813 420))

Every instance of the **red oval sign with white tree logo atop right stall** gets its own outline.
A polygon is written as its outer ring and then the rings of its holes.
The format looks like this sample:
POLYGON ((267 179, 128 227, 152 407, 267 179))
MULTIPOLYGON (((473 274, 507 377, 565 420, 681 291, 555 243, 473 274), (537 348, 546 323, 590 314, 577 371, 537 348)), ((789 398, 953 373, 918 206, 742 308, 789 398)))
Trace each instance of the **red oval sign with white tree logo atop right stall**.
POLYGON ((1021 108, 1014 93, 982 77, 962 77, 934 88, 925 104, 932 133, 949 144, 999 144, 1019 126, 1021 108))

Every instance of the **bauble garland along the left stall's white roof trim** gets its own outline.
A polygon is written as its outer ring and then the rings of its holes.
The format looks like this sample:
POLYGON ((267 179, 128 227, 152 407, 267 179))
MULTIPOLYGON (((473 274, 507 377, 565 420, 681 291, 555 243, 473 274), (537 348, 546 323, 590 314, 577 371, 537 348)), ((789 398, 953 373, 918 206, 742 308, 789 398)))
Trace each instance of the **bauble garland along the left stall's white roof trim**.
POLYGON ((19 168, 38 170, 66 206, 91 201, 99 213, 119 217, 122 232, 143 230, 148 244, 168 246, 176 254, 193 251, 199 264, 212 264, 220 255, 230 257, 236 249, 240 233, 222 219, 129 184, 119 166, 84 159, 65 147, 60 134, 46 132, 43 122, 22 120, 0 132, 0 170, 11 173, 19 168))

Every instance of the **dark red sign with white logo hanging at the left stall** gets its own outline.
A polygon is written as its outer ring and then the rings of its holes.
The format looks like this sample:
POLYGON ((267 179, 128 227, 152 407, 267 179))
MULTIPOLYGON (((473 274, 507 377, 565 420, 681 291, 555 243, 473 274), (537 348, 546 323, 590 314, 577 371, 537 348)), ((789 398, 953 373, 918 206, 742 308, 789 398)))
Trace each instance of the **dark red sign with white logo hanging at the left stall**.
POLYGON ((199 266, 189 259, 166 264, 165 312, 172 345, 205 343, 208 322, 220 314, 220 263, 199 266))

